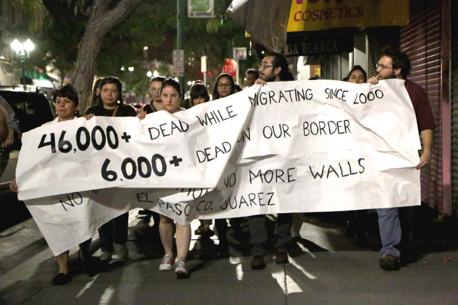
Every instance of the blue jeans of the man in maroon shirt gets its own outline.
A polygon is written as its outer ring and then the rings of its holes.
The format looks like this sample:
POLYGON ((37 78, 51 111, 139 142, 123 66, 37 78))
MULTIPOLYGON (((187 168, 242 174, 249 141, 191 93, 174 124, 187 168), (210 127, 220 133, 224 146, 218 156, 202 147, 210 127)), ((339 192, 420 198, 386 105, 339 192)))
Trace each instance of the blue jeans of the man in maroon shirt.
POLYGON ((391 254, 399 257, 399 245, 401 243, 401 222, 399 220, 399 208, 377 209, 378 228, 382 249, 380 255, 391 254))

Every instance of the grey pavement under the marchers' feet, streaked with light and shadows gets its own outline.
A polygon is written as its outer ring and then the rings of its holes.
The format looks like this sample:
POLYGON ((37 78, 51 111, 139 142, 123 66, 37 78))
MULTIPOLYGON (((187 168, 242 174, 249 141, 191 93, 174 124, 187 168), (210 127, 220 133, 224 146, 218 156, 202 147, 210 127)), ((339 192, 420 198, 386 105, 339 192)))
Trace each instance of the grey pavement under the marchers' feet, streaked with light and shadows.
MULTIPOLYGON (((418 213, 417 213, 418 214, 418 213)), ((378 267, 380 238, 375 211, 367 217, 368 241, 361 245, 344 235, 344 212, 306 214, 302 239, 289 263, 277 265, 269 252, 263 270, 250 268, 248 242, 229 235, 229 258, 218 258, 218 237, 200 241, 193 235, 187 266, 191 277, 177 279, 159 271, 160 241, 151 234, 152 219, 132 210, 129 259, 102 263, 98 236, 91 252, 100 273, 89 277, 70 251, 73 279, 53 286, 57 265, 33 219, 0 233, 0 304, 458 304, 457 225, 420 213, 416 220, 412 260, 399 271, 378 267)), ((274 219, 268 229, 274 242, 274 219)), ((198 226, 194 221, 194 231, 198 226)), ((248 222, 242 223, 248 237, 248 222)))

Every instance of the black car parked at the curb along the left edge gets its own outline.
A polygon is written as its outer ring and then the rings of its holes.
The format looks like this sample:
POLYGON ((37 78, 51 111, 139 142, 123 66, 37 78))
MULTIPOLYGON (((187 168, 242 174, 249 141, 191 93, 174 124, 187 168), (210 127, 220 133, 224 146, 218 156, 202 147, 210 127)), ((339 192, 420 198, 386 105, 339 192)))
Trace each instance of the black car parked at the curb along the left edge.
MULTIPOLYGON (((0 88, 0 96, 16 113, 22 133, 54 119, 55 107, 44 93, 0 88)), ((0 148, 0 231, 30 217, 24 203, 18 201, 16 193, 9 189, 15 177, 21 145, 21 139, 17 138, 11 147, 0 148)))

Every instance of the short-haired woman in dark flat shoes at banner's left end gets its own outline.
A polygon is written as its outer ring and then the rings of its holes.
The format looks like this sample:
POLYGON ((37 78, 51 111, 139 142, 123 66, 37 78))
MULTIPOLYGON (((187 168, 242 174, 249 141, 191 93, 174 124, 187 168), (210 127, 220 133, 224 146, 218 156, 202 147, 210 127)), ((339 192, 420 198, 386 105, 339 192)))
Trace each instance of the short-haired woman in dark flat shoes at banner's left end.
MULTIPOLYGON (((56 107, 57 118, 55 120, 44 123, 43 125, 54 124, 64 122, 67 120, 73 120, 78 118, 78 92, 70 84, 62 86, 59 90, 56 90, 53 96, 53 101, 56 107)), ((11 191, 17 193, 16 179, 10 184, 11 191)), ((82 242, 78 255, 83 262, 84 269, 87 275, 94 276, 98 273, 97 267, 93 258, 89 254, 89 246, 91 245, 91 239, 82 242)), ((59 265, 59 273, 53 278, 53 285, 63 285, 71 281, 71 276, 68 274, 68 255, 69 251, 56 256, 56 262, 59 265)))

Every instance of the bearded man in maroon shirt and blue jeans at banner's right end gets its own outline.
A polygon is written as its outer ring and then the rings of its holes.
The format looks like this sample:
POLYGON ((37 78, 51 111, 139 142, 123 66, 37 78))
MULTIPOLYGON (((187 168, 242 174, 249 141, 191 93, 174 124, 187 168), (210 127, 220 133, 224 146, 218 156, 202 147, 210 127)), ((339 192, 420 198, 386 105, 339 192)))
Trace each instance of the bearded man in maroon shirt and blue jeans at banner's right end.
MULTIPOLYGON (((406 53, 399 50, 386 49, 383 51, 383 55, 376 67, 379 74, 367 80, 372 85, 376 85, 379 80, 392 78, 404 80, 405 89, 414 107, 418 131, 423 140, 423 154, 420 155, 420 162, 416 166, 417 170, 420 170, 429 164, 433 129, 436 127, 428 96, 420 85, 407 79, 407 75, 410 72, 410 60, 406 53)), ((402 234, 399 208, 377 209, 377 214, 380 238, 382 240, 379 266, 385 270, 398 270, 400 268, 399 257, 401 253, 399 246, 402 234)), ((406 234, 403 235, 407 236, 406 234)))

